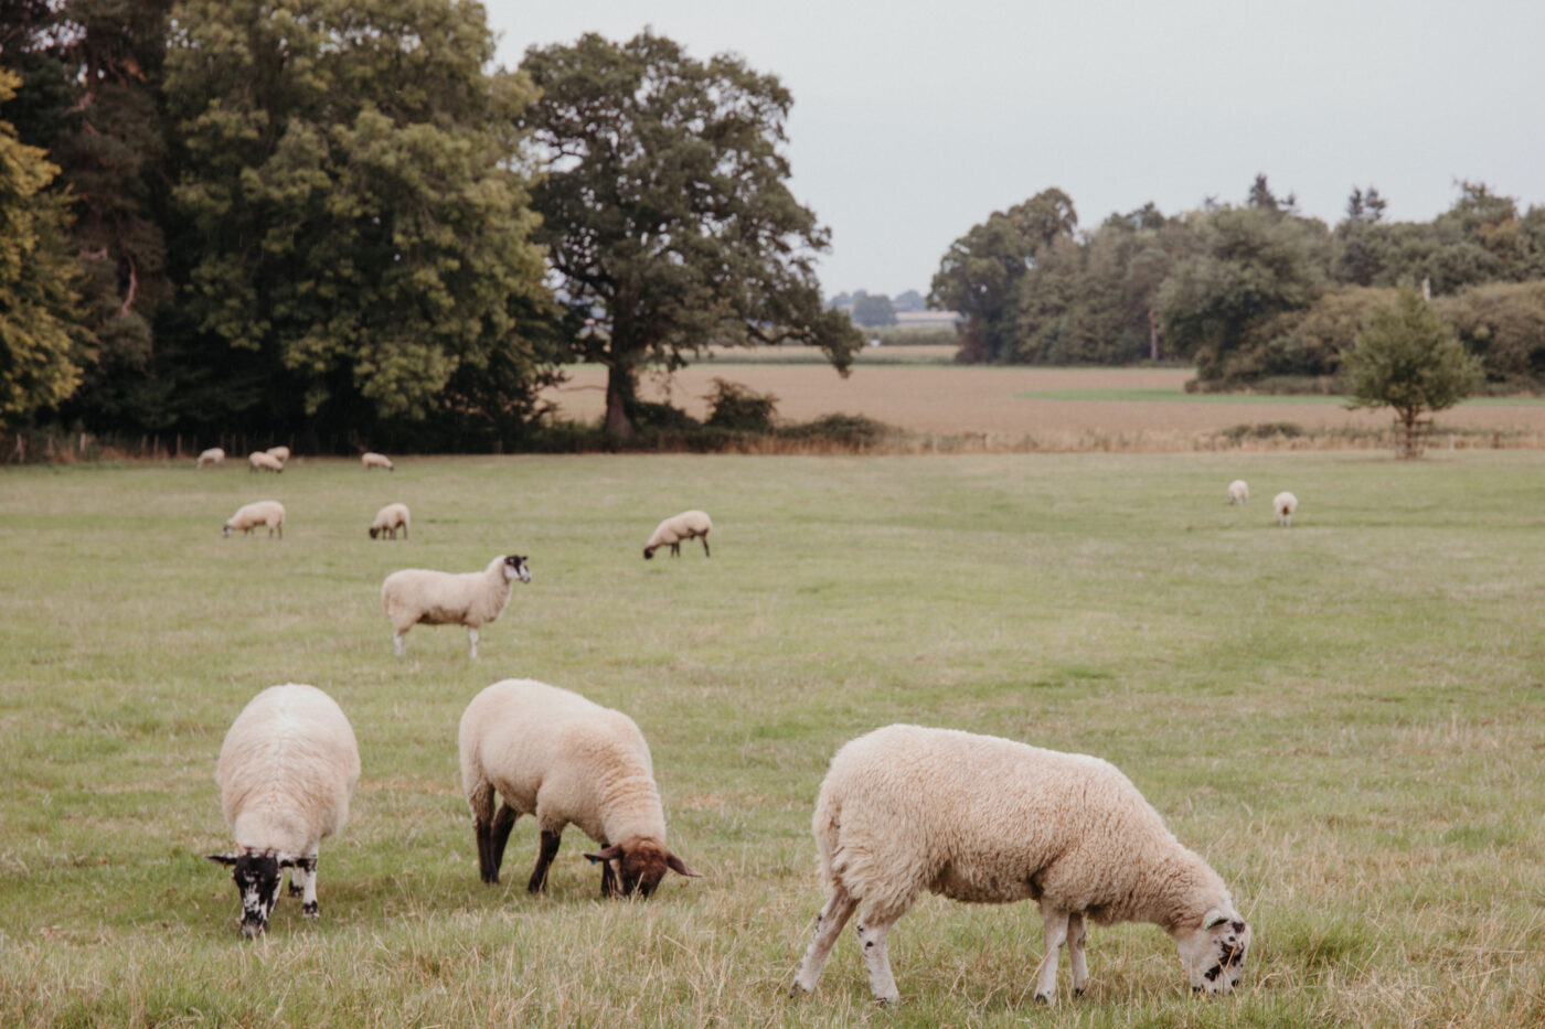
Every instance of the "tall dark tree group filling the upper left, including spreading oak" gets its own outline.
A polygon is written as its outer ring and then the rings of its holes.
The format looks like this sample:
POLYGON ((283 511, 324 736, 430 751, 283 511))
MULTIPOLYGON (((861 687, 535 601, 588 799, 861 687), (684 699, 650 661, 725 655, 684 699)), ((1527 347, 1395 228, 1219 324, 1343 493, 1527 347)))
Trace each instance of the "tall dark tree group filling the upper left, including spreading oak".
POLYGON ((793 97, 649 31, 493 65, 454 0, 0 3, 0 426, 518 445, 572 362, 845 371, 793 97))

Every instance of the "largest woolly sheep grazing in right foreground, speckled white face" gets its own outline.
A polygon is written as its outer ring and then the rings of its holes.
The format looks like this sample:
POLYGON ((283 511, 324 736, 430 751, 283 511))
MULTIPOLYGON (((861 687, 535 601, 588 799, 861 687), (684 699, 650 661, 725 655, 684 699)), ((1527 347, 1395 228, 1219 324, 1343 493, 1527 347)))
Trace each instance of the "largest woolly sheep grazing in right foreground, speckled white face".
POLYGON ((1065 942, 1074 993, 1088 984, 1085 919, 1157 924, 1199 990, 1227 992, 1244 972, 1250 927, 1224 881, 1097 757, 893 725, 831 759, 814 833, 827 904, 791 992, 816 989, 831 944, 859 910, 870 989, 898 1000, 885 936, 921 890, 1040 901, 1046 950, 1035 997, 1046 1003, 1065 942))

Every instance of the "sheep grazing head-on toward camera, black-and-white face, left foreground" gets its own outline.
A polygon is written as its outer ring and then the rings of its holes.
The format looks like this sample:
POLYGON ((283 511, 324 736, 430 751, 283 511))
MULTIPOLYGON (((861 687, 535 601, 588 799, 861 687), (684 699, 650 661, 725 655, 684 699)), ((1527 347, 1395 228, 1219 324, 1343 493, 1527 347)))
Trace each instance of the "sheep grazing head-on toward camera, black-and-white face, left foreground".
POLYGON ((283 868, 301 913, 318 916, 317 847, 343 828, 358 779, 354 729, 315 686, 269 686, 236 715, 215 771, 236 850, 207 858, 233 865, 243 935, 267 929, 283 868))

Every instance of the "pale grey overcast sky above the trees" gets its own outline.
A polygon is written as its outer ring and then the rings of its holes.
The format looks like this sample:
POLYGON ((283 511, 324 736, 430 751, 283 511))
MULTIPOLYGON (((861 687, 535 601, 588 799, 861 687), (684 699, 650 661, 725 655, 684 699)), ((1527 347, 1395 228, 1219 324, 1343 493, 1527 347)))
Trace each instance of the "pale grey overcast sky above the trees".
POLYGON ((1545 0, 485 0, 499 62, 652 26, 794 96, 794 195, 828 295, 922 294, 956 238, 1043 188, 1083 229, 1242 202, 1327 224, 1353 185, 1428 221, 1486 182, 1545 205, 1545 0))

